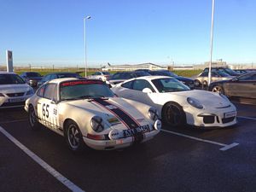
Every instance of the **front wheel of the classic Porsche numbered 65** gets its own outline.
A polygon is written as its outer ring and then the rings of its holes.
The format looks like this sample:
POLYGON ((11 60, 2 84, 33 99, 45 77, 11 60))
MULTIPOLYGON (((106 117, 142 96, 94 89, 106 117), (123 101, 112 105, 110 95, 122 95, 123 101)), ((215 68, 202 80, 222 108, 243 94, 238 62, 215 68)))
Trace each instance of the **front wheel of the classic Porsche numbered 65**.
POLYGON ((68 148, 73 152, 79 153, 84 150, 85 144, 79 125, 73 120, 69 120, 65 125, 65 140, 68 148))

